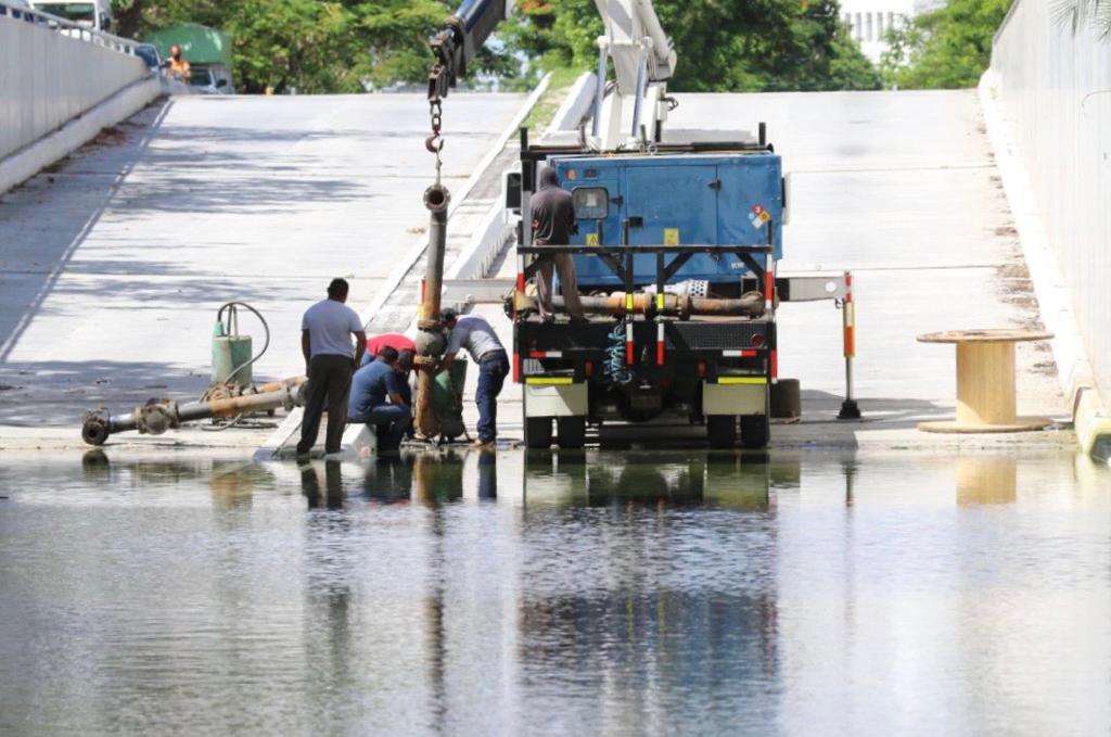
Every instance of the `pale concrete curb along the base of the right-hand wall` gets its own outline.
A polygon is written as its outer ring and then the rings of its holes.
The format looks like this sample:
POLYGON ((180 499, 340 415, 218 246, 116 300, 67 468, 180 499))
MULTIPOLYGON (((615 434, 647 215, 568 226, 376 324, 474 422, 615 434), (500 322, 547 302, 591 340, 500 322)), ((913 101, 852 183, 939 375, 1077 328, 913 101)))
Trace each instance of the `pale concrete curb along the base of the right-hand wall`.
POLYGON ((1045 328, 1055 337, 1050 341, 1058 367, 1061 390, 1069 398, 1077 441, 1085 454, 1111 460, 1111 417, 1095 385, 1088 352, 1072 309, 1072 296, 1057 255, 1050 247, 1038 211, 1038 200, 1019 160, 1003 111, 995 104, 998 74, 988 69, 977 88, 983 111, 988 140, 995 153, 995 166, 1019 231, 1022 255, 1038 298, 1045 328))

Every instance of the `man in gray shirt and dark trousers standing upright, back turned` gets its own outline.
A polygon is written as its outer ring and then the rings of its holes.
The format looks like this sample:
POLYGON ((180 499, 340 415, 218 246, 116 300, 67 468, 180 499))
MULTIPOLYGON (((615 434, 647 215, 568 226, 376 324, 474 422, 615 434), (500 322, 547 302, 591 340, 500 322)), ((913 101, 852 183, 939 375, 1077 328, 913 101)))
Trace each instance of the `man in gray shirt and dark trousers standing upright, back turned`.
POLYGON ((298 456, 307 456, 317 444, 326 406, 328 431, 324 436, 324 452, 340 451, 343 427, 347 425, 351 374, 367 350, 367 332, 362 322, 358 313, 346 303, 348 290, 344 279, 332 279, 328 285, 328 299, 306 310, 301 320, 301 352, 304 355, 304 372, 309 377, 309 398, 301 420, 298 456), (356 337, 353 356, 352 333, 356 337))

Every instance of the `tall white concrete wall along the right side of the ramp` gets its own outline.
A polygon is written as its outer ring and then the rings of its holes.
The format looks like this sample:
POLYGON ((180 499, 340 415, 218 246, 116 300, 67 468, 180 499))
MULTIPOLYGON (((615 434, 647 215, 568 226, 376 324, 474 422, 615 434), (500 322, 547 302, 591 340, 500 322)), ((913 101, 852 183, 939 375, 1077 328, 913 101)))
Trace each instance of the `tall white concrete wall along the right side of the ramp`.
MULTIPOLYGON (((1111 39, 1017 0, 992 49, 994 103, 1037 200, 1101 394, 1111 391, 1111 39)), ((1062 367, 1063 368, 1063 367, 1062 367)))

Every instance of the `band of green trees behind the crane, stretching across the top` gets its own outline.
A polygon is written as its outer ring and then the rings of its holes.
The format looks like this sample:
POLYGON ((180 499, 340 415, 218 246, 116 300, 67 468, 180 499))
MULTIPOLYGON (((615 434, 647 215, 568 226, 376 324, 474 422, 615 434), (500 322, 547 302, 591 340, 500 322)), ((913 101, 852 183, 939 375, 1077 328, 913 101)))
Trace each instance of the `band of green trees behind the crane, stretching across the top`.
MULTIPOLYGON (((236 83, 260 92, 356 92, 422 84, 428 40, 457 0, 114 0, 120 32, 193 21, 228 32, 236 83)), ((478 71, 512 86, 551 69, 593 69, 602 32, 594 0, 520 0, 502 44, 478 71), (522 73, 521 60, 526 69, 522 73)), ((879 77, 838 20, 837 0, 660 0, 680 54, 678 90, 874 89, 879 77)), ((471 70, 471 81, 476 79, 471 70)))

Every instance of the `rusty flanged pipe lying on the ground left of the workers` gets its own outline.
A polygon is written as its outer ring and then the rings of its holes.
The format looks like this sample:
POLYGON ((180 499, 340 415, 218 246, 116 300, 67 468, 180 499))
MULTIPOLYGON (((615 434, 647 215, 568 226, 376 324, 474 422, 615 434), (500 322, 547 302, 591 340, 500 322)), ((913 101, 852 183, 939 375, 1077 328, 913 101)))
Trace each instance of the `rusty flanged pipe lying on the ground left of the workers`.
POLYGON ((181 427, 183 422, 212 417, 238 417, 279 407, 289 410, 304 404, 301 392, 304 384, 306 378, 299 376, 262 385, 257 394, 244 394, 227 399, 189 402, 152 399, 126 415, 113 416, 104 408, 94 409, 86 412, 81 425, 81 439, 90 446, 102 446, 109 436, 117 432, 138 430, 142 435, 162 435, 171 428, 181 427))

